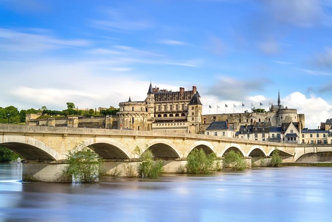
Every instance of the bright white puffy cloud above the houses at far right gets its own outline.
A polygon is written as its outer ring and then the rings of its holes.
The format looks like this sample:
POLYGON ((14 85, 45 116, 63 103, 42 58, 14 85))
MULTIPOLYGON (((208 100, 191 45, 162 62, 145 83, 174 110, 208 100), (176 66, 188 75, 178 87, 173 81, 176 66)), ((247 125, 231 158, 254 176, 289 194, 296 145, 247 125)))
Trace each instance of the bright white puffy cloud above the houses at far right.
POLYGON ((320 97, 311 94, 309 98, 300 92, 294 92, 282 99, 285 106, 297 109, 305 114, 305 126, 317 128, 321 122, 332 117, 332 105, 320 97))

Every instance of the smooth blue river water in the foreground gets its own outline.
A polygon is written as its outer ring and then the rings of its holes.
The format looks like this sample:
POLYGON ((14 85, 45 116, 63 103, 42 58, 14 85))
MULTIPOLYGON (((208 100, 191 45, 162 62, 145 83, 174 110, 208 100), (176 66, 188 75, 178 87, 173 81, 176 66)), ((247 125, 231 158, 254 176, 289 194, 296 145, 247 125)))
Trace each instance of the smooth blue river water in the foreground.
POLYGON ((0 164, 3 222, 331 222, 332 168, 255 168, 98 184, 28 183, 0 164))

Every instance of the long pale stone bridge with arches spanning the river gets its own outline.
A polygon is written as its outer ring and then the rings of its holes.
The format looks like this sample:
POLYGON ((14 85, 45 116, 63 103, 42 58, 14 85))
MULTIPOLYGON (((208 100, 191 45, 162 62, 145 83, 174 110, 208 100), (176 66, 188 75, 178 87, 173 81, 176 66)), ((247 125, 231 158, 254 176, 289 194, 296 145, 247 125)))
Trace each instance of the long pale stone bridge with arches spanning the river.
MULTIPOLYGON (((134 161, 138 157, 134 151, 136 147, 142 152, 150 149, 157 158, 168 162, 185 160, 194 148, 202 148, 206 153, 214 152, 217 157, 234 150, 249 158, 270 156, 277 148, 284 162, 294 162, 310 152, 332 151, 331 144, 314 147, 308 146, 310 144, 272 143, 161 131, 0 124, 0 134, 0 145, 21 154, 27 163, 43 162, 48 165, 61 164, 69 151, 80 149, 83 144, 92 145, 101 158, 113 163, 134 161)), ((165 168, 166 171, 175 171, 174 167, 165 168)))

